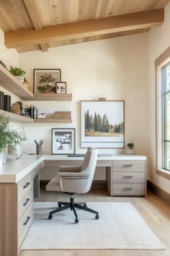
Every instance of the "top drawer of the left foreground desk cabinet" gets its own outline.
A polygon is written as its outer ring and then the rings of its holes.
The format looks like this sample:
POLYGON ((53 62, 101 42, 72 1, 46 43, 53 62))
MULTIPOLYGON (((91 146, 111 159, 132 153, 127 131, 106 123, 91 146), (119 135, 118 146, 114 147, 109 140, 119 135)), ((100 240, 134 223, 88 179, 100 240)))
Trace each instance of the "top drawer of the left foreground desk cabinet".
POLYGON ((27 192, 33 187, 33 174, 27 174, 18 183, 18 202, 22 200, 22 197, 27 194, 27 192))

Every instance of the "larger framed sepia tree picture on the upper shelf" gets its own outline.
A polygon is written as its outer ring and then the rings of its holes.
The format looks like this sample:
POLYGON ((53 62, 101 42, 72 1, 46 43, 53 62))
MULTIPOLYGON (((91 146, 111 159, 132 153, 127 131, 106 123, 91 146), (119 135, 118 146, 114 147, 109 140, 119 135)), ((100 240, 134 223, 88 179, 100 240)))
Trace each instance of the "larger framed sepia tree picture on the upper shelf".
POLYGON ((61 69, 34 69, 34 93, 56 93, 56 82, 61 82, 61 69))

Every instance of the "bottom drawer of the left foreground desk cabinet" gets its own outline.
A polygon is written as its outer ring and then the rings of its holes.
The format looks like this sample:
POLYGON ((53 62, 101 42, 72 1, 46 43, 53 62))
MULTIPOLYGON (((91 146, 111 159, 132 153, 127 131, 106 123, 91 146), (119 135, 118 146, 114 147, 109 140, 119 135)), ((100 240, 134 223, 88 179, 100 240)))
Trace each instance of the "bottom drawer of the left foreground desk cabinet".
POLYGON ((21 246, 24 237, 27 234, 27 231, 30 229, 30 226, 33 221, 33 203, 27 208, 24 212, 22 218, 18 222, 18 249, 21 246))

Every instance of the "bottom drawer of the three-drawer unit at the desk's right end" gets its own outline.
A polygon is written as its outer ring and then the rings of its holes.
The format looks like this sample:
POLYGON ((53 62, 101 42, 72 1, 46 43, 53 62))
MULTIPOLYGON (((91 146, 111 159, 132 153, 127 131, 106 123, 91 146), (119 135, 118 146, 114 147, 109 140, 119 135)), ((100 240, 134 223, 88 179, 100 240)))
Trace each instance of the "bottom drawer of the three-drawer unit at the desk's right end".
POLYGON ((145 183, 113 183, 113 195, 145 195, 145 183))

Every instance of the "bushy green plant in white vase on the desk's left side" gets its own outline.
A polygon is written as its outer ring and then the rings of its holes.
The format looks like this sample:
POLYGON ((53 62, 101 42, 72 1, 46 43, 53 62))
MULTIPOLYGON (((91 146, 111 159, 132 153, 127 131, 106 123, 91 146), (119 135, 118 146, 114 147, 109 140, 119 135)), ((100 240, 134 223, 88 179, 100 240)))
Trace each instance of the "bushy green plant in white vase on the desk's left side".
POLYGON ((14 129, 9 125, 9 117, 0 114, 0 166, 2 163, 6 163, 8 147, 15 148, 15 146, 21 145, 24 140, 27 140, 24 129, 14 129))

